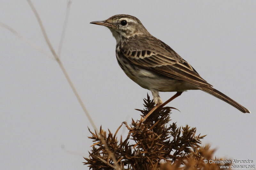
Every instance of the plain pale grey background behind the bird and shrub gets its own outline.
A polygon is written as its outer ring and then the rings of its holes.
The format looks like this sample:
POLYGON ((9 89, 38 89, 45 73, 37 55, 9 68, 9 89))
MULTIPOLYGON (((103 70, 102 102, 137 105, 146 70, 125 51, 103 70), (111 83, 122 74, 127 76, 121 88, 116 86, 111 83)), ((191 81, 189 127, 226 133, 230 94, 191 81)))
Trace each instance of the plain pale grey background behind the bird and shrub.
MULTIPOLYGON (((32 2, 57 50, 67 1, 32 2)), ((139 18, 205 80, 251 110, 243 114, 199 90, 168 104, 181 111, 172 111, 179 126, 207 134, 203 144, 216 148, 217 157, 255 163, 256 1, 74 0, 61 60, 97 126, 111 131, 140 119, 134 109, 143 108, 147 93, 152 96, 118 66, 111 32, 89 24, 115 14, 139 18)), ((0 21, 49 51, 26 1, 1 0, 0 21)), ((82 162, 92 126, 58 64, 3 27, 0 44, 0 169, 89 169, 82 162)))

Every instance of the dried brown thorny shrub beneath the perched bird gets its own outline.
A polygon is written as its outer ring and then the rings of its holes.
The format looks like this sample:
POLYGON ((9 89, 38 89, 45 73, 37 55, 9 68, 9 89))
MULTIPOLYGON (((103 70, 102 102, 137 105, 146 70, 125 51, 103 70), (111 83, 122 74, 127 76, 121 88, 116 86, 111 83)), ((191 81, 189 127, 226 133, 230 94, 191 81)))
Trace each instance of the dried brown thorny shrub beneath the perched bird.
MULTIPOLYGON (((144 110, 139 110, 142 117, 155 106, 149 96, 144 99, 144 110)), ((117 140, 116 134, 108 130, 102 130, 100 135, 106 140, 111 152, 114 154, 121 169, 127 170, 176 170, 176 169, 220 169, 220 164, 204 163, 204 159, 213 159, 214 150, 209 146, 202 147, 201 139, 205 137, 197 135, 196 128, 177 127, 176 123, 169 124, 171 121, 171 107, 159 108, 154 111, 143 123, 134 121, 126 128, 129 133, 126 138, 117 140)), ((138 110, 138 109, 136 109, 138 110)), ((90 129, 89 129, 90 131, 90 129)), ((89 137, 93 140, 92 150, 89 158, 84 158, 85 165, 89 165, 93 170, 112 170, 117 169, 111 160, 105 147, 102 145, 99 136, 92 133, 89 137)), ((220 159, 218 159, 220 160, 220 159)))

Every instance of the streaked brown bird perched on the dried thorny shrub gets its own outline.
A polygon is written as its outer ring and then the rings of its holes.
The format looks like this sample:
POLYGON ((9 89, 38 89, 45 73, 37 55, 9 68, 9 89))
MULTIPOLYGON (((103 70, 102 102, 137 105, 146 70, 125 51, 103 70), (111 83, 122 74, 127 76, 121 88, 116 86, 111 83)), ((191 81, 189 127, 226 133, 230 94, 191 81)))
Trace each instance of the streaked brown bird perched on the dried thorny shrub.
POLYGON ((202 90, 243 113, 251 113, 241 104, 214 89, 170 46, 152 36, 138 18, 119 14, 90 24, 109 28, 116 39, 116 59, 119 66, 132 81, 151 91, 156 105, 147 117, 187 90, 202 90), (163 103, 159 92, 177 93, 163 103))

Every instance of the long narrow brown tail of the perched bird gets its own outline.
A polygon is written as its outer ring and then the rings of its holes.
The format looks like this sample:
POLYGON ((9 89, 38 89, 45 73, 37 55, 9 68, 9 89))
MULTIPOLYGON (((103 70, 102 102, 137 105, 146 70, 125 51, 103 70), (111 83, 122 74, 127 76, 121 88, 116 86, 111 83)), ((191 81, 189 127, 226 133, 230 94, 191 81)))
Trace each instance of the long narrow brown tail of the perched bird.
POLYGON ((212 89, 202 89, 202 90, 205 91, 206 93, 209 93, 212 96, 215 96, 223 100, 224 102, 227 102, 228 104, 234 106, 236 109, 240 110, 243 113, 251 113, 250 110, 246 109, 244 106, 237 103, 236 101, 234 101, 233 99, 229 98, 228 96, 224 95, 223 93, 221 93, 216 89, 212 88, 212 89))

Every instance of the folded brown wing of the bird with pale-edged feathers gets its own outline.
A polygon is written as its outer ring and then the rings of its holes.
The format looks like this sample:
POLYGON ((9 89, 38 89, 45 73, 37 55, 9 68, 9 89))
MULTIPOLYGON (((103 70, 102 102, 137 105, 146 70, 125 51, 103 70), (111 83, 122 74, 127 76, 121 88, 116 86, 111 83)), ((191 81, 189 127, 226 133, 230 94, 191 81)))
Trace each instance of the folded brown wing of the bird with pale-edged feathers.
POLYGON ((183 60, 173 50, 171 52, 170 55, 164 55, 156 50, 121 50, 125 58, 136 66, 167 77, 187 81, 200 87, 208 88, 212 86, 187 61, 183 60))

